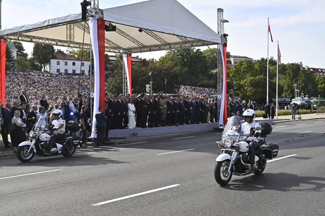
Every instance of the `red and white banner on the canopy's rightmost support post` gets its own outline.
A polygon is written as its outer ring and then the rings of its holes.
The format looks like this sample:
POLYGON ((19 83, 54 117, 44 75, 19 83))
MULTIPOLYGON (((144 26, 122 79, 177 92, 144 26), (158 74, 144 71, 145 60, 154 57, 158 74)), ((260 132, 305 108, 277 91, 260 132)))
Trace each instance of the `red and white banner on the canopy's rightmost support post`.
POLYGON ((222 99, 220 106, 219 125, 226 125, 227 123, 227 45, 222 44, 220 47, 223 81, 222 81, 222 99))

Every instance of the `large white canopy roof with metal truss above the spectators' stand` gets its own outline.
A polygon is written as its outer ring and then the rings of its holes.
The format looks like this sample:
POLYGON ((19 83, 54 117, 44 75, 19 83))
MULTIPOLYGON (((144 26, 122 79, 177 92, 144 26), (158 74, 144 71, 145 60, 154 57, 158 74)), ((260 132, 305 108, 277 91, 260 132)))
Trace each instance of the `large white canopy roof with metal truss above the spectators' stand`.
MULTIPOLYGON (((149 0, 103 9, 105 51, 130 53, 196 47, 221 43, 220 36, 177 0, 149 0), (140 29, 140 30, 139 30, 140 29), (141 31, 142 30, 142 31, 141 31)), ((0 30, 0 38, 90 49, 89 22, 81 13, 0 30)))

